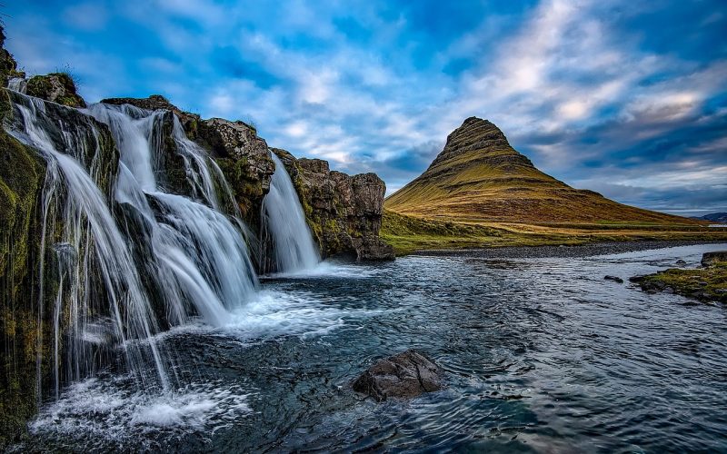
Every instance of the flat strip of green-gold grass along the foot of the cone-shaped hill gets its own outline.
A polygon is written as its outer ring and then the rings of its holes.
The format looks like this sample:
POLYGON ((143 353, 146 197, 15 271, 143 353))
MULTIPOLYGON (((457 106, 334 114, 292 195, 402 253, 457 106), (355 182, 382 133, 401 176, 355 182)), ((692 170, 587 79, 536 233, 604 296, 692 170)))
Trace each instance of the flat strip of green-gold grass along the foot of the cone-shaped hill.
POLYGON ((498 223, 433 220, 383 211, 381 237, 396 255, 433 249, 623 241, 727 241, 727 232, 657 223, 498 223))

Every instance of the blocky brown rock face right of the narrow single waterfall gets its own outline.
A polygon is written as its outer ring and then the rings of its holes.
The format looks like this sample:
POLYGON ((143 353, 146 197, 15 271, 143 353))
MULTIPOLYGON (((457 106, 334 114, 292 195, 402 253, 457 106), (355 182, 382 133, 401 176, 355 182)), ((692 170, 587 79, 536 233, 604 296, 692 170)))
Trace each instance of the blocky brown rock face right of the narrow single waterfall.
POLYGON ((274 148, 291 175, 305 216, 325 257, 393 260, 393 247, 379 238, 386 185, 375 173, 331 171, 320 159, 295 159, 274 148))

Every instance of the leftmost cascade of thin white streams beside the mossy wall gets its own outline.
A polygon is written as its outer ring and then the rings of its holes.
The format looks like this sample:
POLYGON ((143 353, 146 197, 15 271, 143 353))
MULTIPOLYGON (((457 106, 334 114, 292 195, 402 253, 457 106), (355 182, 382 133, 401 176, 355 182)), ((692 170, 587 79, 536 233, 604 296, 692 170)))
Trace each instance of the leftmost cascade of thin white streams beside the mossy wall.
MULTIPOLYGON (((57 131, 56 123, 46 117, 42 101, 27 96, 20 96, 19 100, 23 104, 15 105, 22 124, 16 123, 16 129, 11 133, 34 146, 47 164, 41 205, 43 253, 39 269, 38 323, 41 325, 45 321, 46 301, 55 301, 52 325, 56 397, 61 369, 65 370, 68 381, 94 373, 95 341, 100 339, 99 332, 105 332, 115 344, 122 346, 127 364, 138 372, 139 379, 149 379, 145 371, 151 363, 159 384, 166 388, 168 379, 163 353, 156 343, 149 342, 147 350, 128 348, 126 342, 151 338, 158 327, 128 242, 97 184, 102 158, 98 148, 99 131, 90 120, 76 125, 74 130, 57 131), (54 134, 55 141, 50 133, 54 134), (87 153, 89 143, 95 144, 94 153, 87 153), (61 153, 59 146, 71 154, 61 153), (93 158, 85 163, 89 155, 93 158), (51 258, 55 267, 46 266, 46 258, 51 258), (52 282, 57 287, 55 295, 48 294, 54 287, 52 282), (67 326, 65 318, 68 319, 67 326), (67 332, 63 333, 64 329, 67 332), (64 335, 67 340, 62 339, 64 335), (65 345, 66 350, 65 367, 61 364, 61 345, 65 345)), ((44 341, 43 330, 38 331, 41 333, 38 339, 40 355, 44 341)), ((37 386, 40 388, 42 358, 37 362, 37 386)))

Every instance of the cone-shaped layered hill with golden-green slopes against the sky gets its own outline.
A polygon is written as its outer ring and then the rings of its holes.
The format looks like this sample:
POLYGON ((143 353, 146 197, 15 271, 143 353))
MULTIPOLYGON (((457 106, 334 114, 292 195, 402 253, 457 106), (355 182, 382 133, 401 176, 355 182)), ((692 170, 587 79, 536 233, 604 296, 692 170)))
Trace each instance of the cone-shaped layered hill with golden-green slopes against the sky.
POLYGON ((468 118, 413 182, 384 202, 393 212, 456 222, 697 221, 613 202, 539 171, 493 123, 468 118))

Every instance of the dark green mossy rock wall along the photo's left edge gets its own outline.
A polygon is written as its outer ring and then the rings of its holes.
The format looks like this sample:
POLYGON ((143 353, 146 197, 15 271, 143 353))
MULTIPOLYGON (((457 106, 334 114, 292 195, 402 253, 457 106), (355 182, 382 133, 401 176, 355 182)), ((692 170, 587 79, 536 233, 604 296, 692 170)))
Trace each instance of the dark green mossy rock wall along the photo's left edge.
MULTIPOLYGON (((3 92, 2 102, 7 94, 3 92)), ((43 166, 35 152, 0 130, 0 449, 35 412, 39 328, 30 263, 37 245, 36 201, 43 166)))

